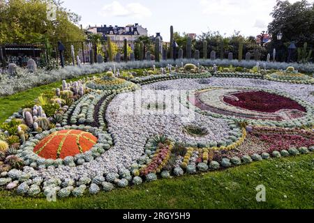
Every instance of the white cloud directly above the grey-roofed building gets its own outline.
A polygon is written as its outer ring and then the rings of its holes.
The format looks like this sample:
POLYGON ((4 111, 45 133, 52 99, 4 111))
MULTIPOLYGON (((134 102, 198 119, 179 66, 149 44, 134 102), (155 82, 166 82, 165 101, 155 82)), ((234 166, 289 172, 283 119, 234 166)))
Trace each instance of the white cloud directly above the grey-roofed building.
POLYGON ((140 19, 151 16, 151 10, 140 3, 128 3, 126 6, 123 6, 119 1, 112 1, 112 3, 103 6, 100 14, 103 16, 135 17, 140 19))

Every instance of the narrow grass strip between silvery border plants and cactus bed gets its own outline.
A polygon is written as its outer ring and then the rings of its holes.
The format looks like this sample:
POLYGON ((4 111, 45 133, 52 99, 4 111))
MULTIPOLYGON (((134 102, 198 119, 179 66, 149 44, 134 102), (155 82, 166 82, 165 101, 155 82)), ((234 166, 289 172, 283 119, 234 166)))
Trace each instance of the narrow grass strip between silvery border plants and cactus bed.
MULTIPOLYGON (((85 75, 84 77, 92 77, 97 75, 85 75)), ((82 76, 83 77, 83 76, 82 76)), ((82 77, 76 77, 73 79, 68 79, 68 81, 75 81, 77 79, 81 79, 82 77)), ((0 123, 6 121, 6 119, 11 116, 14 112, 17 112, 20 107, 28 102, 36 99, 40 93, 43 93, 47 90, 57 88, 61 86, 61 82, 54 82, 52 84, 47 84, 43 86, 38 86, 33 89, 29 89, 27 91, 22 91, 19 93, 15 93, 14 95, 8 95, 0 97, 0 123)))

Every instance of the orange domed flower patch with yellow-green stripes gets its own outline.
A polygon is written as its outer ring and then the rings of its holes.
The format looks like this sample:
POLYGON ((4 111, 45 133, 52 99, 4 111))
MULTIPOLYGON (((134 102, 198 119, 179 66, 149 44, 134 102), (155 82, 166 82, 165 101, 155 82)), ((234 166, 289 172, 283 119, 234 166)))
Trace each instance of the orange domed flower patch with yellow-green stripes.
POLYGON ((42 139, 33 151, 45 159, 64 159, 67 156, 89 151, 96 142, 97 138, 89 132, 61 130, 42 139))

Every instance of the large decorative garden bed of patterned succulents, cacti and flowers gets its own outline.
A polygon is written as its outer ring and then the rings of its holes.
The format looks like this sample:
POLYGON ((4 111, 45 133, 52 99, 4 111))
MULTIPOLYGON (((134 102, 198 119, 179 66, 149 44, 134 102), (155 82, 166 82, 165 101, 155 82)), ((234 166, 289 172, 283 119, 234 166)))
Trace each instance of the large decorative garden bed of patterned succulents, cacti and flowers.
POLYGON ((314 150, 313 78, 292 68, 147 74, 108 69, 23 106, 0 126, 0 186, 79 197, 314 150))

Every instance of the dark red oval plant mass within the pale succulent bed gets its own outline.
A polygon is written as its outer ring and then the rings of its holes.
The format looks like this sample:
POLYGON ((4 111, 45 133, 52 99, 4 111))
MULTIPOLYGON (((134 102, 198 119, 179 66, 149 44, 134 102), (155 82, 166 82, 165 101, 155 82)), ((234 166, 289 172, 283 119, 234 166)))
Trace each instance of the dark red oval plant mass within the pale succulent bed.
POLYGON ((232 95, 239 98, 239 100, 224 97, 223 101, 243 109, 268 113, 277 112, 281 109, 297 109, 301 112, 306 112, 306 109, 299 105, 298 102, 273 93, 264 91, 248 91, 234 93, 232 95))

